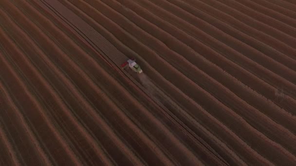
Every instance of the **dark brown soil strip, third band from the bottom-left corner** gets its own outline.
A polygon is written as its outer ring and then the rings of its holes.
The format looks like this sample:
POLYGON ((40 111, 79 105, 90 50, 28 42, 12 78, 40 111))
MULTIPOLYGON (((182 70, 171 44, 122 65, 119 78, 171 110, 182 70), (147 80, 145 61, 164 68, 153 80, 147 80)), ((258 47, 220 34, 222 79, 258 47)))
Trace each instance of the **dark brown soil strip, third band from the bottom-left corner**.
POLYGON ((61 138, 61 135, 57 133, 57 130, 52 124, 51 118, 46 115, 44 108, 38 103, 35 95, 33 96, 33 93, 28 89, 29 87, 23 83, 21 80, 23 78, 14 71, 7 61, 1 60, 1 70, 6 71, 4 72, 6 75, 1 75, 2 79, 4 79, 6 83, 14 83, 14 86, 10 86, 9 93, 15 94, 15 99, 18 100, 19 104, 21 104, 24 114, 26 114, 27 118, 30 119, 30 123, 35 126, 38 137, 43 140, 43 143, 49 151, 53 151, 52 154, 59 156, 59 163, 80 163, 77 161, 74 153, 64 141, 64 138, 61 138), (26 100, 24 101, 22 99, 26 100), (40 120, 43 124, 40 123, 40 120), (48 136, 50 136, 50 140, 47 139, 48 136), (52 147, 52 144, 59 147, 59 149, 52 147))

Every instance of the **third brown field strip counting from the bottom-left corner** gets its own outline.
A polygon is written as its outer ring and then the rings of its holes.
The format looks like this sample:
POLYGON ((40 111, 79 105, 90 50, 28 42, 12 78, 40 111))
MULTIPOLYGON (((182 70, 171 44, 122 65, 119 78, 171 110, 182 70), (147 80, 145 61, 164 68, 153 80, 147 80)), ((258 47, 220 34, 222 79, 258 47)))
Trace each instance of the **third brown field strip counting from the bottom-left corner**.
POLYGON ((14 83, 14 86, 10 87, 10 91, 11 93, 16 94, 15 98, 19 101, 19 104, 22 105, 25 112, 24 114, 28 115, 28 118, 30 119, 31 123, 37 128, 37 131, 41 129, 40 127, 42 127, 43 133, 40 132, 38 135, 40 137, 43 136, 43 140, 47 140, 44 138, 44 136, 51 137, 50 142, 47 142, 47 147, 49 147, 49 144, 55 144, 56 146, 61 147, 61 149, 65 150, 64 154, 67 154, 67 156, 63 155, 63 161, 65 162, 67 160, 68 163, 72 162, 72 164, 79 165, 80 161, 77 160, 77 157, 72 152, 69 145, 57 132, 56 127, 51 121, 51 118, 46 115, 44 111, 45 109, 39 104, 33 93, 30 92, 29 87, 27 87, 27 85, 25 85, 25 83, 22 81, 21 76, 19 76, 19 74, 16 73, 17 71, 12 69, 10 63, 2 57, 0 66, 3 67, 3 70, 5 69, 4 71, 7 71, 5 72, 5 75, 2 76, 3 79, 6 80, 6 82, 14 83), (24 101, 21 99, 27 100, 24 101), (32 115, 32 111, 36 111, 35 114, 32 115), (40 125, 40 120, 42 120, 42 122, 44 123, 43 125, 40 125), (44 131, 47 131, 46 135, 43 135, 44 131))

